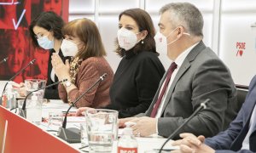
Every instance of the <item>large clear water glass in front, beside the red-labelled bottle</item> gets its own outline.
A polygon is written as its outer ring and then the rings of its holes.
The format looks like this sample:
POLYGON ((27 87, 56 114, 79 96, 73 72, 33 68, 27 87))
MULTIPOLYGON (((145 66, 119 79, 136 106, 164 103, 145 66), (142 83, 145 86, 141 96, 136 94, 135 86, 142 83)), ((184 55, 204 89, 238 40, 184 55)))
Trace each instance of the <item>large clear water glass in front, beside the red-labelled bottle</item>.
POLYGON ((111 152, 118 127, 118 111, 88 110, 85 118, 90 152, 111 152))

